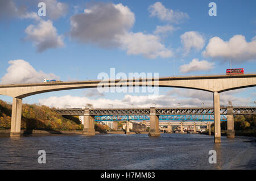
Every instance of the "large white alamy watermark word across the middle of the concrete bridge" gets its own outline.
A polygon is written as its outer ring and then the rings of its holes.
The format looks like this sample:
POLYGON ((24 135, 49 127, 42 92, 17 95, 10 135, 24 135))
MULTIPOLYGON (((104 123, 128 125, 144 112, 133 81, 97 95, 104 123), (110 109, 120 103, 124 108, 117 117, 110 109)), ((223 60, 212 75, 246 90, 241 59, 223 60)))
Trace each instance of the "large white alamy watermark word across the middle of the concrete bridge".
POLYGON ((97 79, 102 81, 98 84, 97 90, 103 92, 147 92, 159 95, 159 73, 129 73, 128 76, 123 72, 115 74, 115 69, 110 69, 108 73, 101 72, 97 79))

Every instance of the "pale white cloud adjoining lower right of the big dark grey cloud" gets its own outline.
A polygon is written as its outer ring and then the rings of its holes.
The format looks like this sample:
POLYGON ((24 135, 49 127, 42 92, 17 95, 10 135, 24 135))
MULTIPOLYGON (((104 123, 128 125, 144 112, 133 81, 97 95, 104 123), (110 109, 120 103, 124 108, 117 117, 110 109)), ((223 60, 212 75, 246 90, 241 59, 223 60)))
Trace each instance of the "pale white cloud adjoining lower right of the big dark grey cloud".
POLYGON ((160 37, 138 33, 127 33, 121 36, 122 47, 127 49, 127 54, 142 54, 147 58, 162 57, 167 58, 172 56, 172 50, 167 49, 164 44, 160 42, 160 37))

